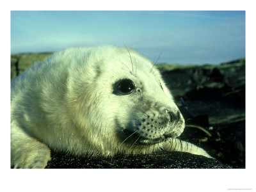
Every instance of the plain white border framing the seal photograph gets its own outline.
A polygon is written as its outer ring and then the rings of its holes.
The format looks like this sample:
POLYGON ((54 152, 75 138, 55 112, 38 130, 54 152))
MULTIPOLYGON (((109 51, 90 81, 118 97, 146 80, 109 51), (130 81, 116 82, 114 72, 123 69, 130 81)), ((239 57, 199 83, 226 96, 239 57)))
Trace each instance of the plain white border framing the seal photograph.
POLYGON ((253 1, 6 1, 1 5, 1 191, 255 191, 253 1), (10 10, 246 10, 246 169, 10 170, 10 10), (241 191, 241 190, 239 190, 241 191))

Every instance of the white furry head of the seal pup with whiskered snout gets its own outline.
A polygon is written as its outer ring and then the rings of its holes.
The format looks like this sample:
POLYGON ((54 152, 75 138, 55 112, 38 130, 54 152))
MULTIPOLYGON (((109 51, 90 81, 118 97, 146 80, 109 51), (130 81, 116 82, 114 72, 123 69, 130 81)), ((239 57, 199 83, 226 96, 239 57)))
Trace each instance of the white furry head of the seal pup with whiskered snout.
POLYGON ((109 46, 84 55, 69 78, 68 94, 88 140, 106 151, 124 142, 153 145, 183 132, 184 118, 151 61, 131 49, 109 46))

